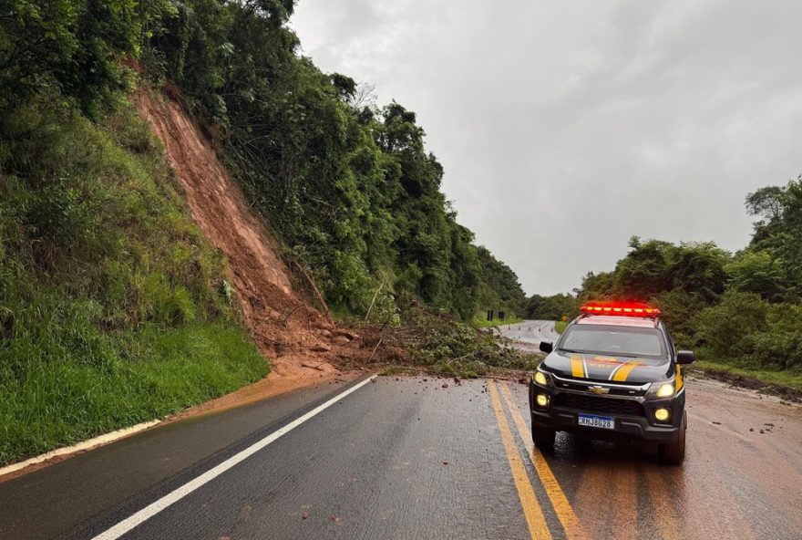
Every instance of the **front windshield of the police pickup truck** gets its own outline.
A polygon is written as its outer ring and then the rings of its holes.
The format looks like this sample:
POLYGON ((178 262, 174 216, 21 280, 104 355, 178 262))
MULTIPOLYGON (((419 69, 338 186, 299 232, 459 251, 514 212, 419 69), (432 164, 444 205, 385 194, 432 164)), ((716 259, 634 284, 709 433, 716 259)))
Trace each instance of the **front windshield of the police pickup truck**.
POLYGON ((560 350, 623 357, 665 358, 657 328, 571 325, 558 344, 560 350))

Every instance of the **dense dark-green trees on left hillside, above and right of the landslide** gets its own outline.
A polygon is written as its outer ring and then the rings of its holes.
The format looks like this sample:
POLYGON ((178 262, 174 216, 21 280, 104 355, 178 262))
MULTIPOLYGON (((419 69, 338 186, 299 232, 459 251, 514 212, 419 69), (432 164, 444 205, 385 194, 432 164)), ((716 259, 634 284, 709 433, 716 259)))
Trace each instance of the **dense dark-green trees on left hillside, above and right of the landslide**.
MULTIPOLYGON (((57 92, 90 119, 136 84, 175 85, 335 311, 419 299, 470 319, 517 312, 517 276, 457 222, 414 112, 325 74, 286 26, 292 0, 11 2, 5 110, 57 92)), ((175 88, 175 87, 172 87, 175 88)), ((380 313, 381 311, 377 311, 380 313)))

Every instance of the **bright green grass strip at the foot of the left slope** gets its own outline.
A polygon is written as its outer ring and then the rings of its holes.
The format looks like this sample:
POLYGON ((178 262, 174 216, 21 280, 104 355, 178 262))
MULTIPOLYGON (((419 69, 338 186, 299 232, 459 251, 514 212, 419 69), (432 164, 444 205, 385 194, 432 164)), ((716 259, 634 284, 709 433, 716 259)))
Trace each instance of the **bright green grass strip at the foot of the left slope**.
POLYGON ((242 332, 218 324, 110 337, 102 366, 21 362, 0 376, 0 464, 162 418, 261 379, 267 363, 242 332))

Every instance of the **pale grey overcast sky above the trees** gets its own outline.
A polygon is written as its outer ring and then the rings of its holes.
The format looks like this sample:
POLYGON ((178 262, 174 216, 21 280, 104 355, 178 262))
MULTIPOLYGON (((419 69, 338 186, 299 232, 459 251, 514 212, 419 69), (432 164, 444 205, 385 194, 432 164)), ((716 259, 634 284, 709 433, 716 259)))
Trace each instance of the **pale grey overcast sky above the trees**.
POLYGON ((325 72, 417 113, 458 221, 527 294, 632 234, 748 241, 748 192, 802 172, 802 2, 301 0, 325 72))

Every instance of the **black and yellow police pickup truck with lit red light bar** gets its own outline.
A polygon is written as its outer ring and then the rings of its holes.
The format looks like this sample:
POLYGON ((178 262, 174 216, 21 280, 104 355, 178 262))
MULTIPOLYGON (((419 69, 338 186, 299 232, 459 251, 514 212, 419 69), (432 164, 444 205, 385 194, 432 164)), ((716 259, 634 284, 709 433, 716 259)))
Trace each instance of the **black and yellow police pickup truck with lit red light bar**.
POLYGON ((653 441, 661 461, 685 457, 683 366, 660 310, 599 302, 581 308, 530 379, 532 440, 550 449, 557 431, 599 440, 653 441))

